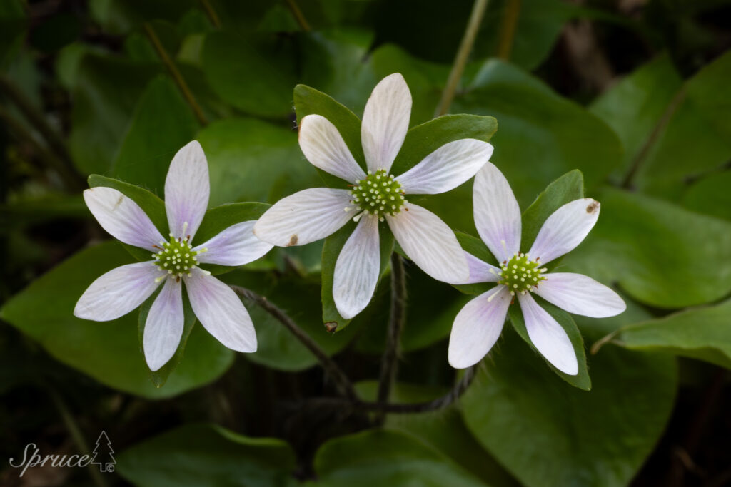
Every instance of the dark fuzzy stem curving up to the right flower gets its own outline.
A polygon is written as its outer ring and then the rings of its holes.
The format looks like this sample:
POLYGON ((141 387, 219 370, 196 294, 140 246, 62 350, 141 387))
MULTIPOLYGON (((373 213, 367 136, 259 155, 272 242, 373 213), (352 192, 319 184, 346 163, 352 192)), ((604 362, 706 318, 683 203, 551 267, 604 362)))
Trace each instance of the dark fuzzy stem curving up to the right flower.
POLYGON ((465 369, 461 380, 455 384, 452 390, 448 394, 434 399, 433 401, 394 404, 389 402, 371 401, 350 402, 346 399, 342 399, 339 397, 320 397, 316 399, 310 399, 308 400, 308 403, 315 407, 334 407, 336 409, 342 410, 352 408, 352 410, 376 411, 379 413, 427 413, 428 411, 436 411, 447 407, 450 404, 454 403, 457 399, 459 399, 474 380, 475 372, 475 366, 469 367, 469 369, 465 369))

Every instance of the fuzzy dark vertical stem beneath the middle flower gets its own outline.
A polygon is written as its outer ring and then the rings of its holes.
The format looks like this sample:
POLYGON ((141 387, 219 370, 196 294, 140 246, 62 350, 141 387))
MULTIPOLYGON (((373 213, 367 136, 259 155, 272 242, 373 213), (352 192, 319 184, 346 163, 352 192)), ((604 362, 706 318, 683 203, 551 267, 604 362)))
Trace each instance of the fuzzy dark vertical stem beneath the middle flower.
MULTIPOLYGON (((404 260, 398 253, 394 253, 391 256, 391 312, 388 321, 386 349, 383 352, 381 361, 381 376, 378 381, 377 400, 379 404, 388 402, 391 386, 396 377, 401 330, 404 329, 405 321, 406 276, 404 272, 404 260)), ((383 413, 376 417, 376 423, 382 422, 383 413)))

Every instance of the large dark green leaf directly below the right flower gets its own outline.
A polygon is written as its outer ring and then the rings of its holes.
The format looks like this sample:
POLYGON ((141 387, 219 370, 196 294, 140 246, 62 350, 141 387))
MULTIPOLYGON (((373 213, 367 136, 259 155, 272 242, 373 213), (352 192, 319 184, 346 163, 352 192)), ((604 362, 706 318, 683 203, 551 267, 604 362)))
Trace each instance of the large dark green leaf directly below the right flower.
POLYGON ((670 418, 673 358, 602 348, 591 392, 558 379, 507 329, 461 399, 470 431, 526 487, 629 484, 670 418))

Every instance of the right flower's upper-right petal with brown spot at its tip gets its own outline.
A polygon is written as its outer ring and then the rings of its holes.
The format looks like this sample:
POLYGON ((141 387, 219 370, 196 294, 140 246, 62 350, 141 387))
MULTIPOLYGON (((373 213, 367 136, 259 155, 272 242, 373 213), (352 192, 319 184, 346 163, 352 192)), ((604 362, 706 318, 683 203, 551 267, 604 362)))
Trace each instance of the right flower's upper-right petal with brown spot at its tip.
POLYGON ((599 218, 599 202, 591 198, 564 204, 546 219, 533 242, 529 255, 548 264, 576 248, 599 218))

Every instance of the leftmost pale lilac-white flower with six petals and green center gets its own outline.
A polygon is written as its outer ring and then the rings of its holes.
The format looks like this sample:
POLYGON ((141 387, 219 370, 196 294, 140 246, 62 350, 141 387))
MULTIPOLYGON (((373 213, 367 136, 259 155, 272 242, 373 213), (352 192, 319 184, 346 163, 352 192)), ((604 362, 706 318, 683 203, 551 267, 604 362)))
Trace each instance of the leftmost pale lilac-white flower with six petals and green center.
POLYGON ((236 294, 198 264, 240 266, 260 258, 272 245, 254 237, 254 221, 236 223, 192 247, 208 207, 208 163, 198 142, 175 154, 165 180, 165 210, 170 226, 166 241, 132 199, 113 188, 84 191, 84 200, 99 224, 113 237, 154 252, 153 260, 128 264, 91 283, 76 303, 74 315, 110 321, 140 306, 162 284, 145 322, 143 349, 151 370, 175 354, 183 334, 182 283, 203 327, 232 350, 254 352, 257 335, 236 294))

